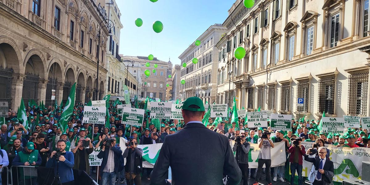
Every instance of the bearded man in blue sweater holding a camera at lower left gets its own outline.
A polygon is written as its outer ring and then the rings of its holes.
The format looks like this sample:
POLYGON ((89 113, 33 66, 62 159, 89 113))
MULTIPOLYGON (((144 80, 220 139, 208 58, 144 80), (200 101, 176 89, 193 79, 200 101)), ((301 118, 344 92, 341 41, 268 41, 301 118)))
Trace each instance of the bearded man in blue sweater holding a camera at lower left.
POLYGON ((54 168, 54 175, 59 174, 63 185, 74 185, 73 176, 74 156, 72 152, 65 151, 65 141, 57 142, 57 151, 51 152, 50 159, 46 163, 47 168, 54 168))

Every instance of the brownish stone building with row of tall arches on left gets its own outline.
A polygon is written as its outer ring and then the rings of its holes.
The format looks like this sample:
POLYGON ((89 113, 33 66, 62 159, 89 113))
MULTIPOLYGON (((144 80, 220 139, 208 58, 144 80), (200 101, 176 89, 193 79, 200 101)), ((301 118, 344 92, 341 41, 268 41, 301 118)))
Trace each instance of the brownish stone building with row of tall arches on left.
POLYGON ((77 102, 101 99, 108 30, 101 29, 99 49, 97 32, 105 12, 93 0, 0 0, 0 101, 13 109, 21 98, 50 105, 56 90, 65 103, 75 82, 77 102))

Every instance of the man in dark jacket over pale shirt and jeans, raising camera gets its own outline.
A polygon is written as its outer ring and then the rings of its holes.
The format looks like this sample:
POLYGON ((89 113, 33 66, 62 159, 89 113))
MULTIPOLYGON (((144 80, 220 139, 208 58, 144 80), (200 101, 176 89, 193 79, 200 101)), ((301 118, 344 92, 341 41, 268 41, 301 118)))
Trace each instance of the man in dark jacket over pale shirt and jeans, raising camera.
POLYGON ((117 173, 123 169, 123 164, 120 163, 119 159, 122 151, 120 147, 115 146, 116 138, 99 137, 99 139, 99 142, 103 142, 101 151, 97 156, 99 159, 103 159, 100 167, 102 185, 107 185, 108 179, 110 185, 114 185, 117 173))

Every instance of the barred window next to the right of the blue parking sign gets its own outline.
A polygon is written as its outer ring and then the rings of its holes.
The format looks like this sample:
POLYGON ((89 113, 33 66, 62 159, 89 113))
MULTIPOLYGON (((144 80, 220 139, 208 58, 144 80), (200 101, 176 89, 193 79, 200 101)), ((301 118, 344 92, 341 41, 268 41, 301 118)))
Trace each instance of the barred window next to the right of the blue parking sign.
POLYGON ((334 114, 335 78, 321 78, 319 80, 319 114, 334 114))

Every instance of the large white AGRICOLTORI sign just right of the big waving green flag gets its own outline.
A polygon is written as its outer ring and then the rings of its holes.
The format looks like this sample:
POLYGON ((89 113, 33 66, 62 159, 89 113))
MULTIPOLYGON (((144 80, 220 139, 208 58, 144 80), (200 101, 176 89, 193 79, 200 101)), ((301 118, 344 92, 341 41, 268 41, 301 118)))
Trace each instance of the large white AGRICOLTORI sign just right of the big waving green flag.
POLYGON ((105 124, 105 113, 107 108, 105 107, 84 107, 84 119, 83 123, 88 124, 105 124))

